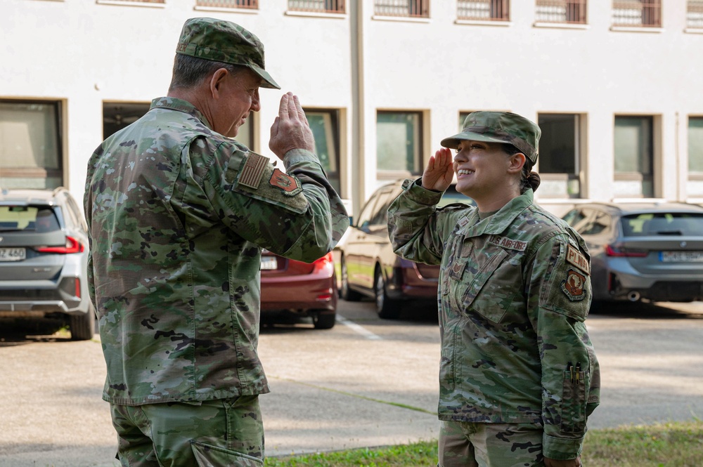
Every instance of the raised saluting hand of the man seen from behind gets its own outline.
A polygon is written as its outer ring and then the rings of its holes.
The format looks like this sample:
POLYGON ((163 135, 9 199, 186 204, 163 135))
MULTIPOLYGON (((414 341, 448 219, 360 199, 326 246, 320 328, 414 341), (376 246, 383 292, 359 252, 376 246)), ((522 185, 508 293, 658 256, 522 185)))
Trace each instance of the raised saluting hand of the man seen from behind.
POLYGON ((315 151, 315 138, 308 124, 298 96, 285 93, 280 98, 278 117, 271 125, 269 148, 278 159, 292 149, 315 151))

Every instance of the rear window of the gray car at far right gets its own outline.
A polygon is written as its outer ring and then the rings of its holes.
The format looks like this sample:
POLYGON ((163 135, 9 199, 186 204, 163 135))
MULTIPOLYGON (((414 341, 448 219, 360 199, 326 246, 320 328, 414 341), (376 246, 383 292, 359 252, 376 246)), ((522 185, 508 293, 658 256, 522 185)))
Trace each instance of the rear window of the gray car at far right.
POLYGON ((703 235, 703 215, 692 213, 640 213, 620 220, 625 237, 645 235, 703 235))

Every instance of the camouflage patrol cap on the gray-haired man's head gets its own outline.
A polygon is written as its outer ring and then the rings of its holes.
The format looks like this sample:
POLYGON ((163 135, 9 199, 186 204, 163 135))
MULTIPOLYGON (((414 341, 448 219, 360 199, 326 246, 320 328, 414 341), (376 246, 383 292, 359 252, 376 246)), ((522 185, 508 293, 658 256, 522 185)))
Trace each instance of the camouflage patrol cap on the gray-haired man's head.
POLYGON ((176 53, 215 62, 248 67, 264 81, 263 88, 280 86, 264 70, 264 44, 251 32, 233 22, 214 18, 186 20, 176 53))

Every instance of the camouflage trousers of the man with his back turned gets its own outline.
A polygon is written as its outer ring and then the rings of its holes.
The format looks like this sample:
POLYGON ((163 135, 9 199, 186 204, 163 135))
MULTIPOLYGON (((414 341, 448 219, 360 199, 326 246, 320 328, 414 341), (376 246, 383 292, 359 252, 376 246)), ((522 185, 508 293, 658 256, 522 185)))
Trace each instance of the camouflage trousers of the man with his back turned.
POLYGON ((259 396, 202 402, 110 404, 123 467, 260 467, 259 396))

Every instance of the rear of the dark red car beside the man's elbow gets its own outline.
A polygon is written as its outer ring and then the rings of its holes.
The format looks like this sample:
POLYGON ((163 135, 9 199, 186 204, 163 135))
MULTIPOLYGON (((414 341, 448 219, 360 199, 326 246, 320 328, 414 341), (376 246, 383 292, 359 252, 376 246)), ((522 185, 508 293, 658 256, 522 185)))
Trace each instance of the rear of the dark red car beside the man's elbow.
POLYGON ((316 329, 330 329, 337 317, 337 277, 332 253, 303 263, 262 252, 262 317, 309 316, 316 329))

